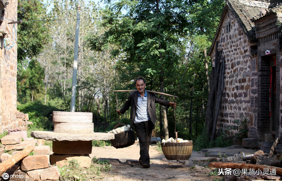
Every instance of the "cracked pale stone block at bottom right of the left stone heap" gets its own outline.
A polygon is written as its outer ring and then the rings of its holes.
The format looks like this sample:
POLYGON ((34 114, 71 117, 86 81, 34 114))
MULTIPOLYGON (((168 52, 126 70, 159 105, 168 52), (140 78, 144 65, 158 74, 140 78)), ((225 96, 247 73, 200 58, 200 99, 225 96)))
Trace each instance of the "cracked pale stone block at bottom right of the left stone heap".
POLYGON ((28 171, 27 175, 33 180, 58 180, 60 172, 57 166, 28 171))

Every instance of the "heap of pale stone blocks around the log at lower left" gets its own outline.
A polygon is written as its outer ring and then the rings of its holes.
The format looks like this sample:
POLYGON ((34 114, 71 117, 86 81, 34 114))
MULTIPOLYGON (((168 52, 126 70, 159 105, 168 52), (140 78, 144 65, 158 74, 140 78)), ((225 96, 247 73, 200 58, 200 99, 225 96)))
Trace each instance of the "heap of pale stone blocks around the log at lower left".
POLYGON ((33 151, 34 155, 29 155, 23 158, 21 162, 16 163, 5 173, 8 173, 8 175, 23 176, 22 179, 19 180, 28 180, 29 178, 32 178, 33 180, 58 180, 60 176, 58 167, 49 167, 50 146, 35 146, 36 142, 36 139, 22 141, 21 134, 6 135, 1 138, 1 162, 11 158, 12 155, 16 154, 20 150, 23 150, 29 145, 35 147, 33 151), (10 151, 12 154, 5 153, 5 151, 10 151))

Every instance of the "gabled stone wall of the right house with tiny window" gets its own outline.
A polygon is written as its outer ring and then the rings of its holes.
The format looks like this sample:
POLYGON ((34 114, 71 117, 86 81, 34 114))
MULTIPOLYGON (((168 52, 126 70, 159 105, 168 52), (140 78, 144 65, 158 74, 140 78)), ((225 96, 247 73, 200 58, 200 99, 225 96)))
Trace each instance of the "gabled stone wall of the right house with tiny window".
MULTIPOLYGON (((222 95, 221 109, 217 122, 219 129, 226 129, 234 125, 234 120, 240 116, 248 119, 249 137, 256 137, 257 127, 257 56, 251 55, 251 44, 248 37, 240 27, 232 12, 227 10, 225 18, 222 19, 219 36, 218 50, 222 50, 225 58, 224 92, 222 95), (226 25, 230 23, 230 32, 226 31, 226 25), (254 134, 255 133, 255 134, 254 134)), ((215 48, 215 47, 214 47, 215 48)), ((211 52, 214 57, 215 50, 211 52)), ((231 136, 236 131, 227 131, 231 136)))

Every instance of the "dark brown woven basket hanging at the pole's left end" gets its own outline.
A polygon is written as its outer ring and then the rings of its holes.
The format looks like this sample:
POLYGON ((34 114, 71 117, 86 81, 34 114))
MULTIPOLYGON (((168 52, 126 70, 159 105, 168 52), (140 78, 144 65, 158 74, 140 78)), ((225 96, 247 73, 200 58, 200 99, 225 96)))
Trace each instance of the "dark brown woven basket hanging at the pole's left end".
MULTIPOLYGON (((120 125, 126 126, 125 124, 120 123, 116 125, 114 129, 116 129, 116 127, 120 125)), ((125 148, 130 145, 133 145, 135 143, 134 131, 129 130, 129 131, 120 132, 118 134, 114 134, 114 139, 110 140, 110 142, 113 145, 113 147, 115 147, 116 149, 125 148)))

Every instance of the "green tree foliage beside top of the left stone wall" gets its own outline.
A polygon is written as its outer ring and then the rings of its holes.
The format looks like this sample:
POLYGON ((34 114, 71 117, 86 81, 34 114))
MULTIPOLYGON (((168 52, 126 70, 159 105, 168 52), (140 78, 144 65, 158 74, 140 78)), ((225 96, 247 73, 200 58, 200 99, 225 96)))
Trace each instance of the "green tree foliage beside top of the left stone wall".
POLYGON ((34 58, 49 41, 47 33, 48 23, 44 20, 46 8, 39 0, 18 0, 17 19, 23 22, 18 24, 17 30, 17 60, 22 65, 27 58, 34 58))

